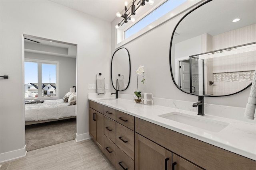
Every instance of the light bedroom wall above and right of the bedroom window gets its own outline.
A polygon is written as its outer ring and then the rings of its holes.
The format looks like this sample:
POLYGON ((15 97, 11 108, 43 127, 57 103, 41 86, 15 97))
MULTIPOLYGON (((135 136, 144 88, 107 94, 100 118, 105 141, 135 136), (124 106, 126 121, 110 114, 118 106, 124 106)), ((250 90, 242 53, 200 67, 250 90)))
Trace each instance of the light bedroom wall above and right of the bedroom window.
MULTIPOLYGON (((72 86, 76 86, 76 59, 54 55, 25 52, 25 58, 41 59, 60 62, 60 99, 62 99, 72 86)), ((28 82, 25 82, 28 83, 28 82)))

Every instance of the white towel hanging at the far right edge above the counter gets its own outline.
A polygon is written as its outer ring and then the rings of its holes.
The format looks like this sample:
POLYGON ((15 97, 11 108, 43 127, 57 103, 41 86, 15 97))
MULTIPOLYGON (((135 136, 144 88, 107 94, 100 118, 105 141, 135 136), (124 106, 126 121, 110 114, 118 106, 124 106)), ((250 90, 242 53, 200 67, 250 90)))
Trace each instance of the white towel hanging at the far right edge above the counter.
POLYGON ((254 71, 251 91, 248 98, 248 103, 246 104, 246 107, 245 107, 244 117, 252 120, 256 118, 255 109, 256 109, 256 70, 254 71))

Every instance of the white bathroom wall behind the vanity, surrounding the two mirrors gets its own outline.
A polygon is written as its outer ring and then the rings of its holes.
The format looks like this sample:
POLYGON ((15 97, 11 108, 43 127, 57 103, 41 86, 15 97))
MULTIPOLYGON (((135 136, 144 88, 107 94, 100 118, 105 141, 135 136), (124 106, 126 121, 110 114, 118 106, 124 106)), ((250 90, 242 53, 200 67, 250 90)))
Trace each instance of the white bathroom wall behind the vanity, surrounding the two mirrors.
MULTIPOLYGON (((172 18, 168 22, 152 29, 140 37, 123 45, 130 53, 131 81, 130 86, 123 94, 133 94, 136 91, 136 69, 140 64, 144 65, 145 84, 139 82, 139 90, 153 93, 154 97, 174 100, 196 102, 196 96, 186 94, 174 85, 169 66, 170 40, 174 27, 185 13, 172 18)), ((116 18, 111 23, 111 53, 115 49, 115 25, 120 22, 116 18)), ((184 47, 186 48, 186 47, 184 47)), ((205 97, 205 103, 224 106, 245 107, 250 88, 239 94, 226 97, 205 97)), ((243 114, 243 113, 241 113, 243 114)))

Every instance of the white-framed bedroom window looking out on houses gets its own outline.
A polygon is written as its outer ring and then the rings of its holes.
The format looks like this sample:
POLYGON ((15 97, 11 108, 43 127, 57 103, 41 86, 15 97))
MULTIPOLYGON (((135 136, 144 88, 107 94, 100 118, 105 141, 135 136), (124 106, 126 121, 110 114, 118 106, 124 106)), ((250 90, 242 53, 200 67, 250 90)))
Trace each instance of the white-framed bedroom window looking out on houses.
POLYGON ((58 61, 25 59, 25 98, 59 98, 58 61))

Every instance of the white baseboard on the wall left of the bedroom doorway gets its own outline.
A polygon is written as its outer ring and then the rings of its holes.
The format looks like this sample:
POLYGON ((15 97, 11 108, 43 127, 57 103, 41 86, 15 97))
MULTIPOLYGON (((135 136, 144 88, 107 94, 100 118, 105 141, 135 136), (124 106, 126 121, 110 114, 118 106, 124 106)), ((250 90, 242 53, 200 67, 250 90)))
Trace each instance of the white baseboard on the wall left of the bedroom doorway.
POLYGON ((0 163, 8 162, 10 160, 25 157, 27 154, 26 145, 22 149, 12 150, 10 152, 5 152, 0 154, 0 163))

